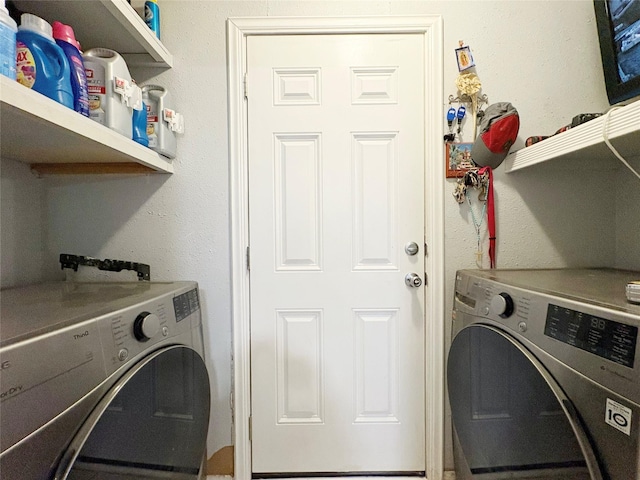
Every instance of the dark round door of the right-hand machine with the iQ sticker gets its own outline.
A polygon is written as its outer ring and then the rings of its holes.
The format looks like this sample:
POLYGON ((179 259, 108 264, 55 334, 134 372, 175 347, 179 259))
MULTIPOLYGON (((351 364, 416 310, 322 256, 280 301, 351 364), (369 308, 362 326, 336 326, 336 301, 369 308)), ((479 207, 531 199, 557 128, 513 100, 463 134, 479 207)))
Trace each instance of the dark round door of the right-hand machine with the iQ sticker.
POLYGON ((462 478, 602 479, 571 401, 506 333, 480 324, 462 329, 449 351, 447 383, 462 478))

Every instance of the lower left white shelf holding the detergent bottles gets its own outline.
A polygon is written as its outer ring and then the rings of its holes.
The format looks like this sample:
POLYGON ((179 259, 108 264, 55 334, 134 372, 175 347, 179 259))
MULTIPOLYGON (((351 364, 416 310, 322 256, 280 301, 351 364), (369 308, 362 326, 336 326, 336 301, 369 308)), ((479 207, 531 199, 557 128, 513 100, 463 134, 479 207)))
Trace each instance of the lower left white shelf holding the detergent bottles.
POLYGON ((0 75, 1 157, 38 173, 173 173, 163 156, 0 75))

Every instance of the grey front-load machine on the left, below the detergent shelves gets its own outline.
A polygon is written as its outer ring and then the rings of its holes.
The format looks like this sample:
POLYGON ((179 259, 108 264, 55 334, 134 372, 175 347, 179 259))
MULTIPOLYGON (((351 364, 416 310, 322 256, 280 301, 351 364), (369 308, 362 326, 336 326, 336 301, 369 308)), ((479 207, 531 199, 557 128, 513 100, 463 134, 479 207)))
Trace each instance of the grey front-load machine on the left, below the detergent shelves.
POLYGON ((6 479, 197 479, 209 377, 195 282, 0 292, 6 479))

